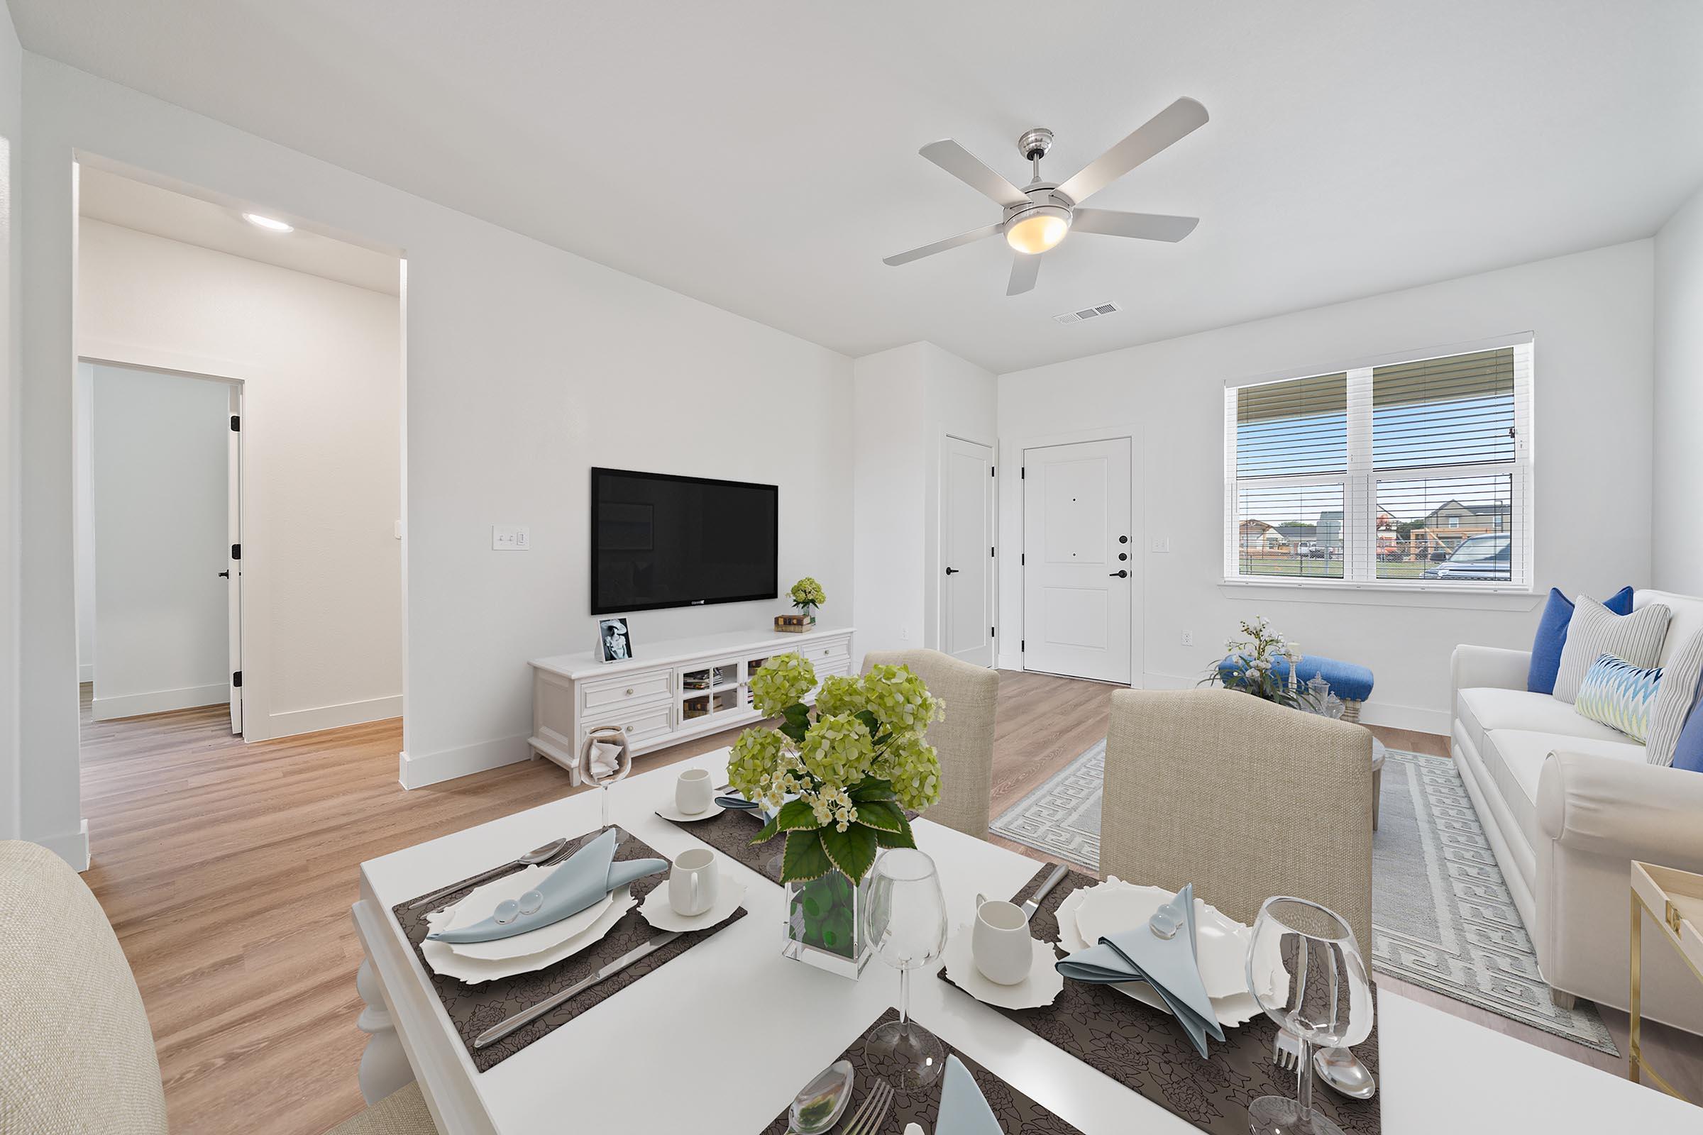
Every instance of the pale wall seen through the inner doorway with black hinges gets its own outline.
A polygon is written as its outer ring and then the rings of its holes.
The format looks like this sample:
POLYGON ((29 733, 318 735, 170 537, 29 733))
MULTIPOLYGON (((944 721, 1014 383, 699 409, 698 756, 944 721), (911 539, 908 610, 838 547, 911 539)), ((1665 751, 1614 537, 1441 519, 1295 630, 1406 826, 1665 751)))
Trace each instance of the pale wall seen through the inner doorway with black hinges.
POLYGON ((230 390, 94 368, 97 720, 226 699, 230 390))

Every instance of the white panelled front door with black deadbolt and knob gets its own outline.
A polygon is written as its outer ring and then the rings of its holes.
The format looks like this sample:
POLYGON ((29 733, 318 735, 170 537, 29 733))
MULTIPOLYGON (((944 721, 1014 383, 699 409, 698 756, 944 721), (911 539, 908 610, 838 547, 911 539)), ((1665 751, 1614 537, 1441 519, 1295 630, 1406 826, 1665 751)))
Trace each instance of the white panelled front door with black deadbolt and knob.
POLYGON ((1024 669, 1127 686, 1129 439, 1024 451, 1024 669))

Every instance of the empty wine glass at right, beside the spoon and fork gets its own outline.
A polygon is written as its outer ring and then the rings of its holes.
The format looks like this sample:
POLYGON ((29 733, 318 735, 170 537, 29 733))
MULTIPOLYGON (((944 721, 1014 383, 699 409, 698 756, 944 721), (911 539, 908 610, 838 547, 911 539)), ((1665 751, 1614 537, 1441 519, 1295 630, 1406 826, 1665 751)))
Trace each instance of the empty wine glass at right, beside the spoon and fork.
POLYGON ((1301 1040, 1296 1099, 1248 1104, 1255 1135, 1342 1135, 1313 1108, 1313 1047, 1347 1048, 1373 1031, 1373 990, 1354 931, 1306 898, 1267 898, 1248 943, 1248 990, 1279 1028, 1301 1040))

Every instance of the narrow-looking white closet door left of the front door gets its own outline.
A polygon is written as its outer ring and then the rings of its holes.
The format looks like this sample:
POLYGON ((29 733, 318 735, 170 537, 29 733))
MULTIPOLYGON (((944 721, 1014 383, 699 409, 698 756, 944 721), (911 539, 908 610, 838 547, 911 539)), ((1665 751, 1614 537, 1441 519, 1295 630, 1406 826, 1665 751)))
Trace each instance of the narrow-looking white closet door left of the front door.
POLYGON ((942 650, 993 665, 993 449, 947 437, 940 456, 942 650))

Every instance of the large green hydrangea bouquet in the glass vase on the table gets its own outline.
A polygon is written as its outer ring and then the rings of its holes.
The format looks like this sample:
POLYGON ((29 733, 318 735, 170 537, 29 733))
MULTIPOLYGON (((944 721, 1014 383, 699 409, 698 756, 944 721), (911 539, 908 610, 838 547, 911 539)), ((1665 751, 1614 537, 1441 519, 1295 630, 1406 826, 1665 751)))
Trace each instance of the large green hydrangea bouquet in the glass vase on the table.
POLYGON ((940 759, 925 733, 943 706, 904 665, 824 679, 814 711, 804 704, 811 689, 816 669, 795 653, 751 676, 753 703, 780 725, 739 735, 727 779, 775 812, 751 842, 785 832, 783 883, 834 871, 857 883, 880 847, 916 846, 904 810, 940 800, 940 759))

